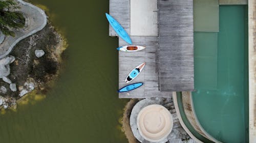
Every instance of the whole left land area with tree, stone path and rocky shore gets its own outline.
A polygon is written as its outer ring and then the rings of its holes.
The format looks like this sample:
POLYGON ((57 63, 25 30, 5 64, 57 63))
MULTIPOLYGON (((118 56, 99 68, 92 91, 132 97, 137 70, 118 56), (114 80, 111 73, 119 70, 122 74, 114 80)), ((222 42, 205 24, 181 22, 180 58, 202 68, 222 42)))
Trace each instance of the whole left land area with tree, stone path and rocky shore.
POLYGON ((34 91, 46 94, 67 47, 40 8, 22 0, 0 1, 0 108, 16 108, 34 91))

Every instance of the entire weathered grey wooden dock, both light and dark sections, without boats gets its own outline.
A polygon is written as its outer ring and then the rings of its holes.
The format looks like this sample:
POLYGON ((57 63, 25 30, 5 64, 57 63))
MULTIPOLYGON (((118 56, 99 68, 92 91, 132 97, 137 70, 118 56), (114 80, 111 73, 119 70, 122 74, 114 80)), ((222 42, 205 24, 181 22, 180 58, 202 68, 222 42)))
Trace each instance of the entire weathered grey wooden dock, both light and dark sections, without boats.
MULTIPOLYGON (((193 0, 156 1, 159 36, 131 36, 133 45, 146 48, 133 53, 119 51, 119 89, 127 85, 126 76, 146 62, 140 75, 130 82, 144 85, 119 93, 119 98, 168 98, 170 91, 194 90, 193 0), (163 20, 168 18, 173 19, 163 20)), ((110 0, 110 15, 130 34, 130 0, 110 0)), ((109 36, 117 36, 111 26, 109 36)), ((119 46, 123 45, 127 43, 119 38, 119 46)))

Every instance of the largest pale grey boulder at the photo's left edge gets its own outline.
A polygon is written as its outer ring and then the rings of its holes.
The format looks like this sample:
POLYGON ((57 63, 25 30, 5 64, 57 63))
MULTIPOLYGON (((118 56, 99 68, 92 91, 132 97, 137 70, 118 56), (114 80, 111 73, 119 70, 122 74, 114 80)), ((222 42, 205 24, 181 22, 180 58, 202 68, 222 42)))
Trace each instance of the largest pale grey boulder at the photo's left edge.
POLYGON ((5 58, 0 60, 0 78, 4 76, 8 76, 10 74, 10 66, 15 60, 14 56, 6 56, 5 58))

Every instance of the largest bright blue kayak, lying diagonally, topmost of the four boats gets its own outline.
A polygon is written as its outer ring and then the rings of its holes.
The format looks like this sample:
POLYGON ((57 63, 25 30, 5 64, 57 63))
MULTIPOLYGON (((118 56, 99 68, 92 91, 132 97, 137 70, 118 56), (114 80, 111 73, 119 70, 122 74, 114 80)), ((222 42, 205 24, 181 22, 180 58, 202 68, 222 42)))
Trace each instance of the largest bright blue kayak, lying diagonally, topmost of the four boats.
POLYGON ((132 44, 132 40, 124 28, 108 13, 106 13, 106 18, 109 20, 110 25, 113 27, 115 32, 121 37, 125 42, 132 44))

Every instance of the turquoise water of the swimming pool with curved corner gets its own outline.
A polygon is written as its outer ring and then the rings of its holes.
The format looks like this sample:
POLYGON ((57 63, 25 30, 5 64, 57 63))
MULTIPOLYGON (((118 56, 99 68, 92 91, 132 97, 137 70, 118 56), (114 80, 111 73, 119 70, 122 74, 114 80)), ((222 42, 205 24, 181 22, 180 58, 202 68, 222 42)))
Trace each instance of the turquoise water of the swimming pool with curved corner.
POLYGON ((247 6, 219 14, 219 33, 195 32, 195 111, 216 139, 248 142, 247 6))

